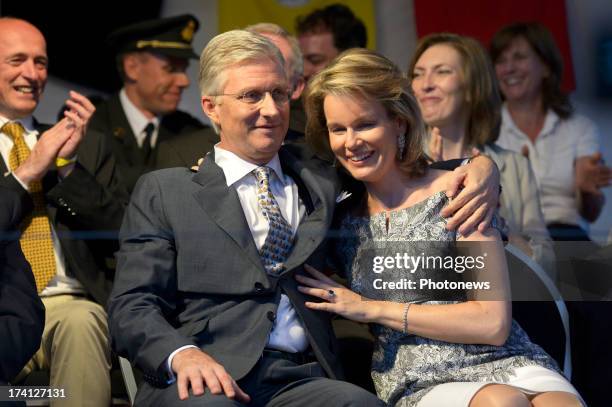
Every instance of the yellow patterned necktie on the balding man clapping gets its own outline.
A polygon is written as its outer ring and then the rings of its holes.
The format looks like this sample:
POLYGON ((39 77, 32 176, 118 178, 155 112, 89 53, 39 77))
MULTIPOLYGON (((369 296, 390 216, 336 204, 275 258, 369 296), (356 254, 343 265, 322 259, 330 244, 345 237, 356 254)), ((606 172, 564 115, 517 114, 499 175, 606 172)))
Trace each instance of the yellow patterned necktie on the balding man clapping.
MULTIPOLYGON (((30 155, 30 149, 23 138, 24 128, 20 123, 9 122, 2 126, 2 132, 13 140, 13 148, 9 153, 9 166, 11 171, 15 171, 30 155)), ((36 289, 40 293, 56 273, 55 253, 42 183, 31 182, 29 192, 34 201, 34 210, 21 224, 22 234, 19 242, 23 254, 32 267, 36 289)))

